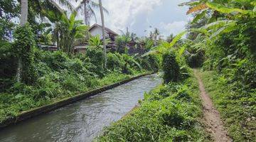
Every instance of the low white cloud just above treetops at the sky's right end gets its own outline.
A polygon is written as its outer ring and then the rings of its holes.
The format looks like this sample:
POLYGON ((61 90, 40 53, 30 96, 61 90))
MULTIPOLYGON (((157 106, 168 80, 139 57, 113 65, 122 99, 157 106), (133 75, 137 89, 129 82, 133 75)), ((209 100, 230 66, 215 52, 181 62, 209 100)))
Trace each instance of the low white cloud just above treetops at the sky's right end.
POLYGON ((185 30, 185 26, 188 22, 187 21, 174 21, 172 23, 159 23, 159 30, 162 32, 161 34, 164 36, 168 36, 171 33, 174 35, 180 33, 181 31, 185 30))

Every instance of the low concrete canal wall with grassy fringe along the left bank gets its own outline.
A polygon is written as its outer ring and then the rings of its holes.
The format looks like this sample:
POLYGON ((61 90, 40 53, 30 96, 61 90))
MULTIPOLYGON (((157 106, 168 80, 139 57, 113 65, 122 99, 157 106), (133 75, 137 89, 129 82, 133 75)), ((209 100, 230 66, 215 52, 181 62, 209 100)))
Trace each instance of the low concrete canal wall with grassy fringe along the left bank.
POLYGON ((100 80, 102 86, 92 88, 88 92, 81 92, 79 94, 68 95, 68 97, 55 98, 52 101, 49 101, 48 103, 42 105, 41 107, 34 107, 32 109, 21 111, 17 113, 15 116, 6 116, 5 119, 1 119, 0 121, 0 129, 10 124, 16 124, 20 121, 29 119, 33 116, 38 116, 39 114, 43 114, 48 111, 53 111, 54 109, 58 109, 59 107, 71 104, 80 99, 85 99, 86 97, 91 97, 107 89, 112 89, 113 87, 117 87, 120 84, 124 84, 126 82, 135 80, 145 75, 150 75, 152 73, 153 72, 140 72, 137 75, 108 75, 108 77, 104 77, 102 78, 102 80, 100 80))

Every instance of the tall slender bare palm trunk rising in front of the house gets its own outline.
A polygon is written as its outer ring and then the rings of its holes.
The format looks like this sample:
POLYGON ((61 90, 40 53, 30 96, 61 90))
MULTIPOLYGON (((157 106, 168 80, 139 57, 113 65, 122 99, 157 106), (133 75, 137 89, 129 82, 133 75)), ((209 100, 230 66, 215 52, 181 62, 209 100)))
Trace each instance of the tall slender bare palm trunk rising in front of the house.
POLYGON ((104 14, 102 8, 102 1, 99 0, 100 4, 100 17, 102 20, 102 35, 103 35, 103 55, 104 55, 104 67, 107 68, 107 49, 106 49, 106 41, 105 41, 105 21, 104 21, 104 14))

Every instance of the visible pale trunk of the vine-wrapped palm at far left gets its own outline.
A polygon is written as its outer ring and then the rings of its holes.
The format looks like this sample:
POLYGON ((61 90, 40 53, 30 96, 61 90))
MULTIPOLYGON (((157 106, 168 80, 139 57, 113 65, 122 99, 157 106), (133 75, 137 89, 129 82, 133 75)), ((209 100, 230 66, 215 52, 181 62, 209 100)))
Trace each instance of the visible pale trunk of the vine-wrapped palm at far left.
MULTIPOLYGON (((28 21, 28 0, 21 0, 21 26, 25 26, 28 21)), ((17 82, 21 82, 21 72, 22 72, 22 58, 21 55, 18 56, 18 68, 16 72, 17 82)))

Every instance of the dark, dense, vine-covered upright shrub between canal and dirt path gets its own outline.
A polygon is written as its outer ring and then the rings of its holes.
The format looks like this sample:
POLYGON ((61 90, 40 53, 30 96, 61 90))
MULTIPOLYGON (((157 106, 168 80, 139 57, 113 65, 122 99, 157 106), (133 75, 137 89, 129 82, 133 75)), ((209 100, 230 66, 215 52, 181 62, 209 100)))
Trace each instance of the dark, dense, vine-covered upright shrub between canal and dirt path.
POLYGON ((164 53, 162 68, 164 71, 164 82, 177 82, 180 73, 180 67, 176 61, 176 55, 173 52, 164 53))

